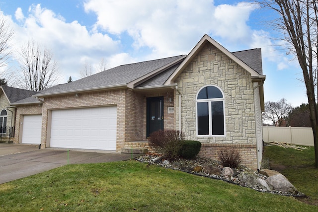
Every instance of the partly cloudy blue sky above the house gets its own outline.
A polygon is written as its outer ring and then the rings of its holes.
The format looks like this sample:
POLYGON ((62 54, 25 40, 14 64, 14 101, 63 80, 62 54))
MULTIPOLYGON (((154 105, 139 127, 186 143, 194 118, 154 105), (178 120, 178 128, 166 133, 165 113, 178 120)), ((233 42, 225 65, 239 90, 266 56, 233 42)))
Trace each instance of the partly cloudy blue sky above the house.
POLYGON ((307 102, 298 62, 273 39, 276 14, 248 0, 0 0, 0 13, 14 30, 6 69, 16 74, 18 51, 31 39, 51 50, 66 83, 102 60, 113 68, 188 55, 208 34, 230 52, 262 49, 265 101, 307 102))

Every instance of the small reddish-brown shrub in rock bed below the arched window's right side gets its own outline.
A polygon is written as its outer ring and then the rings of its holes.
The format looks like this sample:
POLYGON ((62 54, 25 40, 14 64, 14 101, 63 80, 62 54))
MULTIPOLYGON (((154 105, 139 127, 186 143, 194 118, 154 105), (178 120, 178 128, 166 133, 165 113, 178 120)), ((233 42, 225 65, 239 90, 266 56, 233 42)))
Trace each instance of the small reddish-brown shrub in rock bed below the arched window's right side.
POLYGON ((219 159, 224 167, 236 168, 242 161, 237 149, 223 149, 219 152, 219 159))

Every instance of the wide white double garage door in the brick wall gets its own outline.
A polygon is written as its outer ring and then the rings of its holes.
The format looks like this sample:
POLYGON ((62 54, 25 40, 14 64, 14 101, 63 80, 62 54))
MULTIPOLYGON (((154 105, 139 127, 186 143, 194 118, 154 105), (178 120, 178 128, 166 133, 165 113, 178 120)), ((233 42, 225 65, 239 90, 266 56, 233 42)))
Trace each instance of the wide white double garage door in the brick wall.
POLYGON ((51 147, 116 150, 116 106, 53 110, 51 123, 51 147))

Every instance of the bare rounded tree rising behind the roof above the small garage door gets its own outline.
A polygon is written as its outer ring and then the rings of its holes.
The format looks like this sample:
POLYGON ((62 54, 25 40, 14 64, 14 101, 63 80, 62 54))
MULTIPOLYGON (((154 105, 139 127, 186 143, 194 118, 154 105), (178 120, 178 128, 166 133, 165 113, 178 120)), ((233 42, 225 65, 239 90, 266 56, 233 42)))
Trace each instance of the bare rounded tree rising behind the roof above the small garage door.
POLYGON ((54 85, 59 79, 57 62, 45 46, 40 48, 39 44, 31 40, 22 46, 19 53, 22 86, 26 89, 40 91, 54 85))

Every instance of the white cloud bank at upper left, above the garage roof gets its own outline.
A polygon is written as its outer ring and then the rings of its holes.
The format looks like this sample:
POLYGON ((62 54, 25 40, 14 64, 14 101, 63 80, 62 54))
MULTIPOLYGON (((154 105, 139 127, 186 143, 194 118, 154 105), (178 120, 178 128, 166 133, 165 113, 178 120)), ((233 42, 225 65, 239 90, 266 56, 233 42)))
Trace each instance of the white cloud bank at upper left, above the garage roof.
POLYGON ((108 57, 120 51, 119 40, 113 40, 101 32, 90 31, 78 21, 67 23, 62 16, 42 8, 40 4, 31 5, 26 16, 18 8, 15 17, 20 21, 19 25, 15 24, 16 50, 19 51, 32 38, 40 45, 45 45, 54 53, 60 71, 64 74, 64 81, 70 75, 73 79, 80 77, 79 70, 84 65, 80 58, 85 57, 88 63, 95 64, 100 58, 107 61, 108 57))

